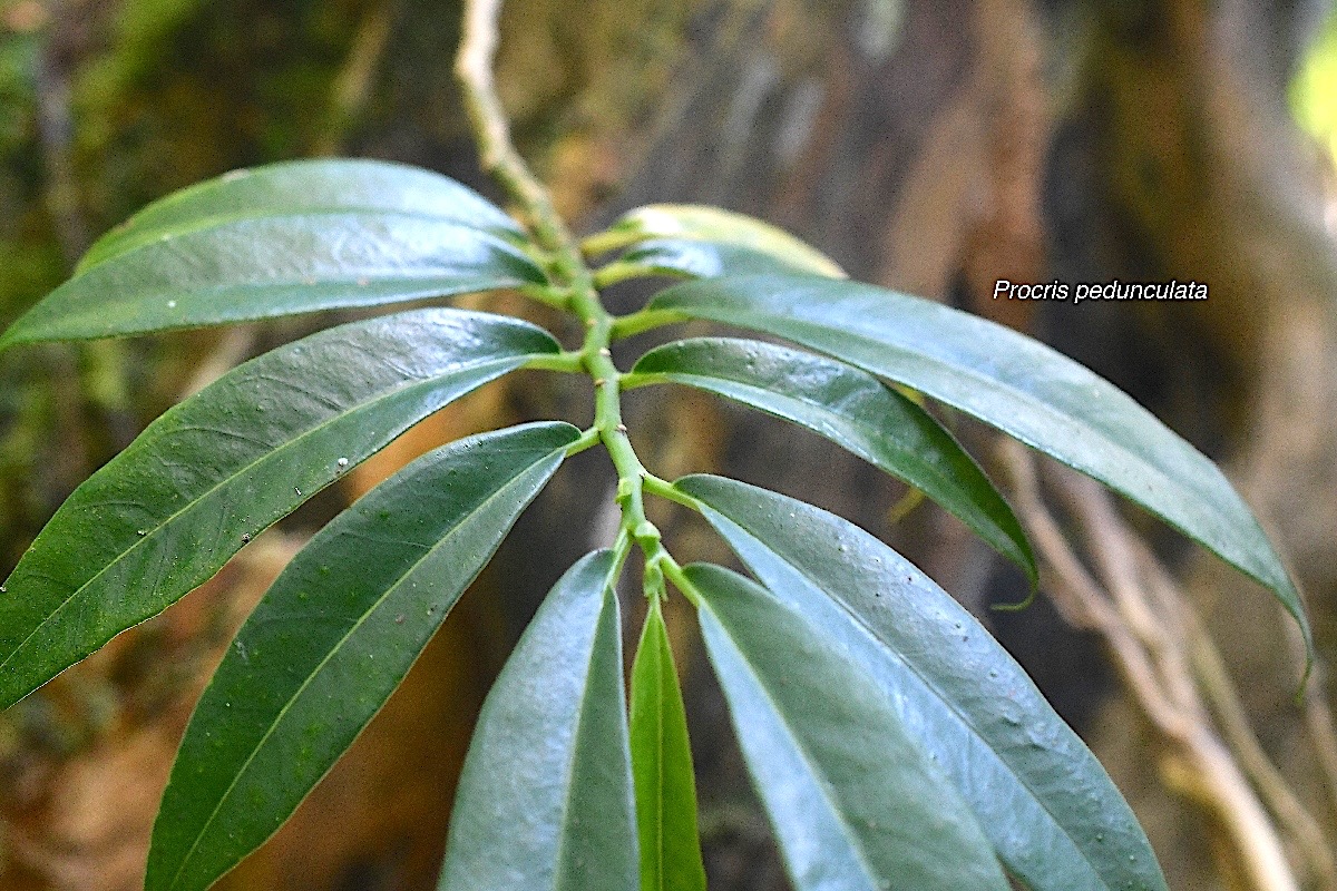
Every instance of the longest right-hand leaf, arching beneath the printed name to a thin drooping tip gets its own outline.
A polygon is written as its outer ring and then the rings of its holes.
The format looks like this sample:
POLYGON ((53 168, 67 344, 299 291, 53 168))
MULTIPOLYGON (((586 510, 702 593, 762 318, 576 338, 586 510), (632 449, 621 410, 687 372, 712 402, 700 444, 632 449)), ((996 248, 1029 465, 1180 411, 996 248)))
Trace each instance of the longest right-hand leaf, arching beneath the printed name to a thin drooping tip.
POLYGON ((1122 390, 1043 343, 939 303, 814 277, 687 282, 650 309, 802 343, 1095 477, 1267 586, 1313 652, 1300 593, 1221 470, 1122 390))

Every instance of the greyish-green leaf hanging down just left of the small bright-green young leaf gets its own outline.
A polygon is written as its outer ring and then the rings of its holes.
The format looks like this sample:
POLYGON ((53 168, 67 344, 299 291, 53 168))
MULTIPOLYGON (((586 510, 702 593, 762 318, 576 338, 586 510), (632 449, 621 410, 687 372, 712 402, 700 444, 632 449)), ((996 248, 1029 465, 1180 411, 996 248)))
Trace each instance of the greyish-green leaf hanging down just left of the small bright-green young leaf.
POLYGON ((607 550, 567 570, 488 693, 441 891, 635 891, 615 573, 607 550))

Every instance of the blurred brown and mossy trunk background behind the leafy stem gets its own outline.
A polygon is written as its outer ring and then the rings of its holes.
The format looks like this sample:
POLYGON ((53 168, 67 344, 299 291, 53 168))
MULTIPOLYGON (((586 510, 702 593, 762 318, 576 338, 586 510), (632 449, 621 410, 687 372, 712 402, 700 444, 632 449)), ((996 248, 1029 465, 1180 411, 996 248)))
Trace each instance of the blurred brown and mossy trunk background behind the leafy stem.
MULTIPOLYGON (((1330 660, 1337 262, 1325 223, 1333 160, 1318 148, 1337 140, 1328 5, 516 0, 500 87, 521 150, 582 231, 640 203, 723 204, 810 239, 858 278, 1028 330, 1119 382, 1227 462, 1289 550, 1330 660), (1197 279, 1211 297, 1194 307, 1001 305, 997 278, 1197 279)), ((0 0, 0 326, 68 275, 98 234, 231 168, 374 156, 491 192, 452 83, 457 17, 456 3, 429 0, 0 0)), ((626 309, 644 294, 612 297, 626 309)), ((0 358, 0 577, 74 486, 183 391, 324 323, 0 358)), ((135 887, 193 699, 286 556, 436 442, 588 411, 539 379, 489 387, 424 425, 257 540, 207 592, 0 716, 0 888, 135 887)), ((1249 887, 1211 815, 1167 787, 1155 735, 1094 639, 1043 600, 989 613, 1017 598, 1019 580, 949 517, 924 506, 890 522, 898 486, 701 397, 638 399, 632 413, 638 448, 662 476, 725 468, 912 554, 992 622, 1107 760, 1173 887, 1249 887)), ((983 431, 959 431, 989 456, 983 431)), ((226 887, 433 887, 483 691, 537 596, 599 540, 607 521, 588 496, 607 485, 596 461, 563 472, 349 759, 226 887)), ((677 514, 663 524, 683 552, 718 556, 677 514)), ((1257 589, 1142 528, 1195 592, 1263 744, 1334 838, 1337 799, 1290 703, 1284 625, 1257 589)), ((783 888, 690 616, 675 621, 711 887, 783 888)))

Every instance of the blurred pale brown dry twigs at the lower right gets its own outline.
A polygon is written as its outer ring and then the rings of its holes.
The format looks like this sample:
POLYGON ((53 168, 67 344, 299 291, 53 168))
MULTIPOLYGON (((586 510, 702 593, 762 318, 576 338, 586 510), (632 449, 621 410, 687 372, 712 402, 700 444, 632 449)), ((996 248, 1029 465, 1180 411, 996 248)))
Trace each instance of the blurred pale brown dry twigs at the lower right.
POLYGON ((1021 521, 1048 569, 1051 596, 1068 621, 1104 637, 1128 691, 1170 748, 1167 783, 1215 814, 1253 887, 1301 887, 1282 835, 1306 880, 1337 887, 1320 824, 1263 753, 1189 600, 1108 493, 1066 468, 1044 468, 1044 482, 1079 526, 1094 578, 1046 505, 1032 456, 1011 441, 1001 453, 1021 521))

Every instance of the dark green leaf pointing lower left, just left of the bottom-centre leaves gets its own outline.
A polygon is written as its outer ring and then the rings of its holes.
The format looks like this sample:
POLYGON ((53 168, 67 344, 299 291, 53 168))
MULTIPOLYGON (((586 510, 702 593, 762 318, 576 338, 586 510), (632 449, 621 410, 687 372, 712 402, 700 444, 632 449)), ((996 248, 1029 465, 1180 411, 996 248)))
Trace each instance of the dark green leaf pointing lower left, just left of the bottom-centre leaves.
POLYGON ((203 891, 278 830, 579 435, 533 423, 451 443, 312 538, 195 707, 154 824, 146 891, 203 891))

